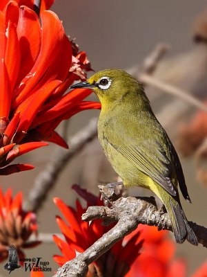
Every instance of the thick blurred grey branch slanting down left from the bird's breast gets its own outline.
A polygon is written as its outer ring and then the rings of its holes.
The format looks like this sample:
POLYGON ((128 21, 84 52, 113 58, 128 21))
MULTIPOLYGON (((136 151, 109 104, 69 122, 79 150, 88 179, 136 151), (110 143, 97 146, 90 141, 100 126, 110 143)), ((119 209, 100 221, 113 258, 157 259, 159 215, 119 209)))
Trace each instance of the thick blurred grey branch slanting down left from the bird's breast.
POLYGON ((38 211, 41 204, 48 194, 48 191, 55 185, 59 174, 66 167, 68 161, 70 161, 75 154, 79 153, 82 148, 97 136, 97 118, 90 120, 90 123, 86 125, 81 131, 72 136, 68 145, 70 150, 63 150, 58 148, 52 155, 51 161, 37 176, 34 181, 34 185, 30 190, 28 199, 23 203, 23 208, 26 211, 38 211))

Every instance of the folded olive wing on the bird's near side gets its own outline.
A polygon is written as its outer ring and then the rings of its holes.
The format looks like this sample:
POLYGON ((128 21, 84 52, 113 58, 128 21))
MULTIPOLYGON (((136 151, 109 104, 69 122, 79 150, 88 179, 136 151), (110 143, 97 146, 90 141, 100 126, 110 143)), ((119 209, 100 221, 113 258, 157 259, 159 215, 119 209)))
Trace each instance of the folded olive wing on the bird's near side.
POLYGON ((172 163, 160 143, 144 141, 139 143, 139 145, 119 146, 112 143, 110 145, 141 172, 156 181, 170 195, 177 195, 171 181, 172 163))

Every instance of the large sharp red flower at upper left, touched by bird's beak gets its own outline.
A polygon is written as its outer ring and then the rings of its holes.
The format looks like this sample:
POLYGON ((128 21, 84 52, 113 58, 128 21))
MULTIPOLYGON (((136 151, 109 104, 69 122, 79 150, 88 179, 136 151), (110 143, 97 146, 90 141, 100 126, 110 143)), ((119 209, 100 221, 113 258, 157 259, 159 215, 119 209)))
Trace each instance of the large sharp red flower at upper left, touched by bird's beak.
POLYGON ((86 53, 66 37, 57 15, 42 1, 41 24, 33 0, 0 3, 0 175, 32 169, 10 165, 17 156, 47 145, 67 144, 55 128, 84 109, 100 108, 83 101, 91 91, 66 93, 90 70, 86 53), (26 6, 23 6, 26 5, 26 6))

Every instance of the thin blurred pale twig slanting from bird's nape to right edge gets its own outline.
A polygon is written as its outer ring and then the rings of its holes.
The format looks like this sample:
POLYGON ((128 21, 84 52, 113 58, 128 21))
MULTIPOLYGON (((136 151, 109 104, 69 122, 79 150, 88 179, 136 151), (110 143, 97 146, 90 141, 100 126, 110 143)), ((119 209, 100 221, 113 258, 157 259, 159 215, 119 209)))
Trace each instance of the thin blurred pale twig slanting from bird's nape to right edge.
POLYGON ((173 96, 177 96, 199 109, 207 111, 206 105, 204 105, 201 101, 199 101, 194 96, 190 95, 187 91, 184 91, 184 89, 179 89, 178 87, 174 87, 172 86, 172 84, 168 84, 164 81, 153 78, 148 74, 139 75, 139 80, 140 82, 144 82, 145 84, 150 84, 154 87, 157 87, 157 89, 161 89, 162 91, 165 91, 166 93, 169 93, 173 96))

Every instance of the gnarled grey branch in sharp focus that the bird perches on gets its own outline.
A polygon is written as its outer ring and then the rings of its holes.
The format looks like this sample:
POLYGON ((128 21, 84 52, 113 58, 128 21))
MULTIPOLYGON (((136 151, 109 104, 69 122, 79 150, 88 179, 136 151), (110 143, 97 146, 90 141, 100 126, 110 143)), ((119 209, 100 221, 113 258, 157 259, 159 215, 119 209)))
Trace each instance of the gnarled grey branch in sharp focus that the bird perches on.
MULTIPOLYGON (((101 186, 101 190, 102 198, 106 199, 108 196, 112 198, 111 188, 101 186)), ((97 260, 116 242, 134 231, 138 224, 157 226, 159 230, 172 231, 168 214, 164 212, 163 208, 157 209, 154 197, 121 197, 110 204, 110 208, 108 206, 90 206, 82 215, 82 219, 85 221, 102 219, 105 220, 106 224, 108 222, 117 222, 117 224, 86 251, 79 253, 75 259, 66 262, 53 277, 86 276, 90 263, 97 260)), ((193 222, 189 222, 189 224, 193 228, 198 242, 207 247, 207 229, 193 222)))

